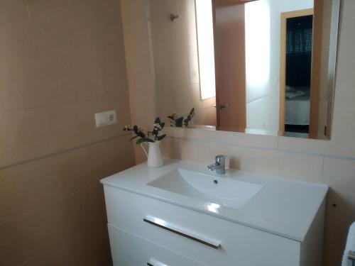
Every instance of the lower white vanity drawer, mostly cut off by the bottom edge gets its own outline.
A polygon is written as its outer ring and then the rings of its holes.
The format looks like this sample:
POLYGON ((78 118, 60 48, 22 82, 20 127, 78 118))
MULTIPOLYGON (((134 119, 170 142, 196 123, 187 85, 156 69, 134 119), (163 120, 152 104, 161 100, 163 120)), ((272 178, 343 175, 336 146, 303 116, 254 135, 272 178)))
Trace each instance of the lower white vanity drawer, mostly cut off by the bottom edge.
POLYGON ((109 237, 114 266, 204 266, 121 228, 109 226, 109 237))

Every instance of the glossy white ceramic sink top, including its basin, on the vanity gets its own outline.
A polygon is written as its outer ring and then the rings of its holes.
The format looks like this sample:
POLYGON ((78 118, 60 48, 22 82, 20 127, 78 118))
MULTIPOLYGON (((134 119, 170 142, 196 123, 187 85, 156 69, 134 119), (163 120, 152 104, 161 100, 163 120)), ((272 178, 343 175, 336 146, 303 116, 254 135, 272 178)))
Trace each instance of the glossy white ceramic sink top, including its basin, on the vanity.
POLYGON ((158 168, 136 165, 102 183, 300 242, 324 209, 328 191, 322 184, 256 172, 215 176, 204 164, 180 160, 165 160, 158 168))

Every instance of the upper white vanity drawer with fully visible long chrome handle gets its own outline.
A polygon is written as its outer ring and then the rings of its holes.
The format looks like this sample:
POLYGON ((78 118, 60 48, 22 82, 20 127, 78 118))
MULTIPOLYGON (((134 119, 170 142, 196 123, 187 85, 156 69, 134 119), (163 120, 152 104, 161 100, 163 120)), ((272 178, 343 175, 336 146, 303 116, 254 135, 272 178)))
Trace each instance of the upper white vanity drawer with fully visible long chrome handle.
POLYGON ((121 189, 104 190, 109 225, 205 265, 300 265, 297 241, 121 189), (147 217, 158 225, 144 221, 147 217))

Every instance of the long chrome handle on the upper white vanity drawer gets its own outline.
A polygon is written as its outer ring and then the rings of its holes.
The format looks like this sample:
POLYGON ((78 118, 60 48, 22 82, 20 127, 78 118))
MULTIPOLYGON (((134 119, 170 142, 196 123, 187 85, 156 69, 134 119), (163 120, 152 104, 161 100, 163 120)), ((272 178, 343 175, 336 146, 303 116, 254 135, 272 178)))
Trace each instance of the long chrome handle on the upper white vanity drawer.
POLYGON ((221 247, 221 241, 219 240, 214 240, 211 238, 204 237, 202 235, 198 235, 197 233, 187 231, 186 229, 175 226, 172 223, 168 223, 167 221, 164 221, 160 218, 155 218, 153 216, 147 215, 145 218, 143 218, 143 221, 145 221, 146 223, 150 223, 153 226, 158 226, 172 233, 181 235, 185 238, 189 238, 204 245, 208 245, 211 248, 219 249, 221 247))

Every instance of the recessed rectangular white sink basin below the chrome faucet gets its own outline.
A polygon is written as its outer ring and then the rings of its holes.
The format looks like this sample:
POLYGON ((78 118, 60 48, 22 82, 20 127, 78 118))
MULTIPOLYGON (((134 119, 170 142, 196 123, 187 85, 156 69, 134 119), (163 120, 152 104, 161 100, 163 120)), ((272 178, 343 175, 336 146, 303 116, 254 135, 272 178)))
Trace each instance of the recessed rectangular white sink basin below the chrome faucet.
POLYGON ((209 211, 219 206, 241 209, 262 188, 259 184, 216 177, 190 170, 176 169, 149 182, 148 186, 206 201, 209 211))

